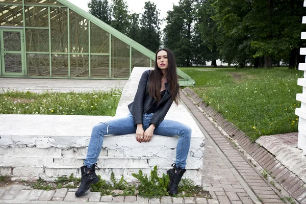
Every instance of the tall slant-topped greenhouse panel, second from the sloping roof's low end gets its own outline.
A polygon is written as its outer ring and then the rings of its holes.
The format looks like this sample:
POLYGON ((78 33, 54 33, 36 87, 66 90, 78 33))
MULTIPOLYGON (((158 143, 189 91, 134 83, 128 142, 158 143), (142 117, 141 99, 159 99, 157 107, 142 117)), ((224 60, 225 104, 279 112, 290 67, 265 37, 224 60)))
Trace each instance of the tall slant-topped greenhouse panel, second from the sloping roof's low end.
POLYGON ((130 46, 112 36, 112 78, 130 77, 130 46))

